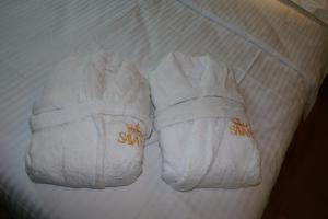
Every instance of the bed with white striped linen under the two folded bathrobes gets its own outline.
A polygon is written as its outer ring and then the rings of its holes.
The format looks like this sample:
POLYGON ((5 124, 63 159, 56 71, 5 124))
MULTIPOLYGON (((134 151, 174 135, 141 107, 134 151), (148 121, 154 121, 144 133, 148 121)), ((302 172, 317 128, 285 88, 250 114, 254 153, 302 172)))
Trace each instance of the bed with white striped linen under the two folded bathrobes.
POLYGON ((0 198, 15 218, 260 218, 328 69, 327 30, 276 0, 1 1, 0 27, 0 198), (261 184, 176 192, 161 180, 157 143, 130 186, 34 184, 24 170, 32 104, 60 60, 98 48, 144 76, 172 50, 226 61, 259 145, 261 184))

